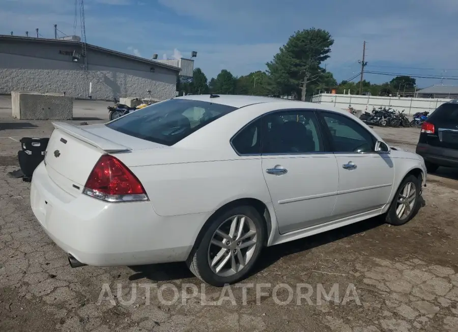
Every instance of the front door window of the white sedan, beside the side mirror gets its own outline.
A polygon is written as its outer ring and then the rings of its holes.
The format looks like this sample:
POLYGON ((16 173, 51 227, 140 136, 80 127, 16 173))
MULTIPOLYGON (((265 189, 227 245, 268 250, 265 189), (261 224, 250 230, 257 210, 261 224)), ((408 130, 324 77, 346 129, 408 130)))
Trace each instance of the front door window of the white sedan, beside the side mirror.
POLYGON ((333 152, 373 152, 374 137, 359 123, 345 115, 323 112, 326 125, 331 132, 333 152))

